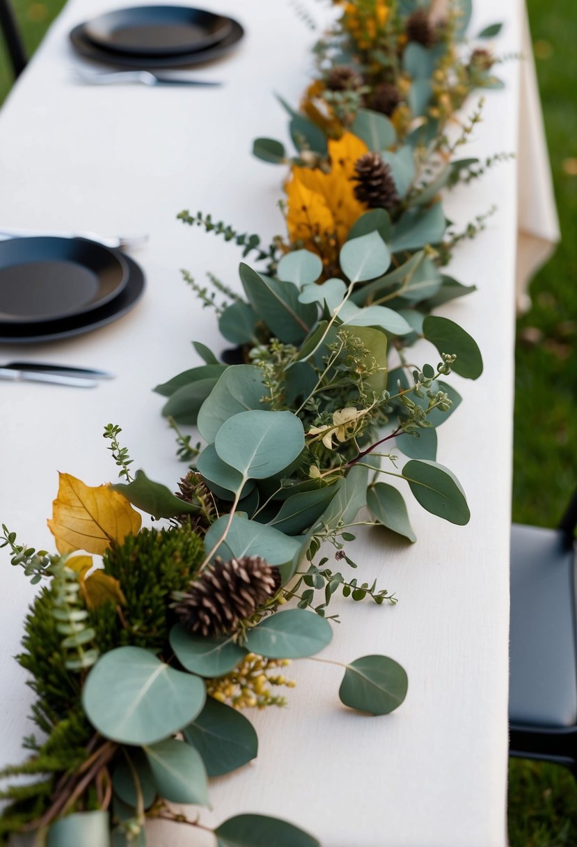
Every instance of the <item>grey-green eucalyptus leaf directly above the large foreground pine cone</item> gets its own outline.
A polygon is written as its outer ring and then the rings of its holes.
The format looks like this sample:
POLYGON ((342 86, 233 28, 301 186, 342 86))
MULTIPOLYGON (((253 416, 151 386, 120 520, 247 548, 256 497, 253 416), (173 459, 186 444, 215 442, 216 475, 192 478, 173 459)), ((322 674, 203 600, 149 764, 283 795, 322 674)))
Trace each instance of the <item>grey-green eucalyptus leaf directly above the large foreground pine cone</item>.
MULTIPOLYGON (((228 515, 223 515, 212 523, 205 536, 207 550, 212 550, 227 523, 228 515)), ((298 540, 285 535, 279 529, 234 515, 227 537, 215 556, 220 556, 225 561, 233 557, 239 559, 243 556, 261 556, 269 565, 284 565, 293 560, 299 546, 298 540)))

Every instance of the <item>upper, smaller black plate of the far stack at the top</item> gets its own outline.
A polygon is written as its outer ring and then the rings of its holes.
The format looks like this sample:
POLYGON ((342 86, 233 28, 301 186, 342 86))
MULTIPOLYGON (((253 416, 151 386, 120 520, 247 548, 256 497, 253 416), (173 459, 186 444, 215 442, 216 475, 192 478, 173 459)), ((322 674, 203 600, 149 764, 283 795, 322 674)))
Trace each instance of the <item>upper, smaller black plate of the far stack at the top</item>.
POLYGON ((85 23, 85 36, 97 47, 136 56, 195 53, 222 42, 230 18, 186 6, 134 6, 115 9, 85 23))

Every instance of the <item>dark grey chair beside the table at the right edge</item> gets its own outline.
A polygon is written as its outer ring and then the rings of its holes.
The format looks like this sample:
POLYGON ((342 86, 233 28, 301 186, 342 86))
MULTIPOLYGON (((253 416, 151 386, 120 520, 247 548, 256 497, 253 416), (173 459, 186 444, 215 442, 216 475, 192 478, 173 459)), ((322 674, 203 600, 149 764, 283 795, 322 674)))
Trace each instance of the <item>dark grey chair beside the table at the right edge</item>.
POLYGON ((577 778, 577 494, 558 529, 511 532, 511 756, 569 767, 577 778))

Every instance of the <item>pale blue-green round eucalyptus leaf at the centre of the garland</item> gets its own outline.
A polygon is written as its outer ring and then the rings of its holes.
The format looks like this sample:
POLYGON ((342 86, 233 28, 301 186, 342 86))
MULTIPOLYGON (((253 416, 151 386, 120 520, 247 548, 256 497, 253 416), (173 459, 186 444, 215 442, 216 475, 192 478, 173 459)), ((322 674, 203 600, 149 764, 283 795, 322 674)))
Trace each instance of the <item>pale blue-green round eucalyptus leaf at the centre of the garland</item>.
POLYGON ((293 412, 239 412, 217 432, 218 456, 246 479, 267 479, 287 468, 305 447, 293 412))

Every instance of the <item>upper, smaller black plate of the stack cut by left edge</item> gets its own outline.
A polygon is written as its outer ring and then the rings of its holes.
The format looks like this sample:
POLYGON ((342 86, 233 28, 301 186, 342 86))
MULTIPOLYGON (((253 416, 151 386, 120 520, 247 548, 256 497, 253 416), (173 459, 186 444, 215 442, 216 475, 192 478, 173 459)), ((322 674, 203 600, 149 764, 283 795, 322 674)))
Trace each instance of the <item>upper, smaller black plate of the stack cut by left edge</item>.
POLYGON ((91 312, 118 296, 124 257, 80 238, 0 241, 0 323, 40 324, 91 312))

